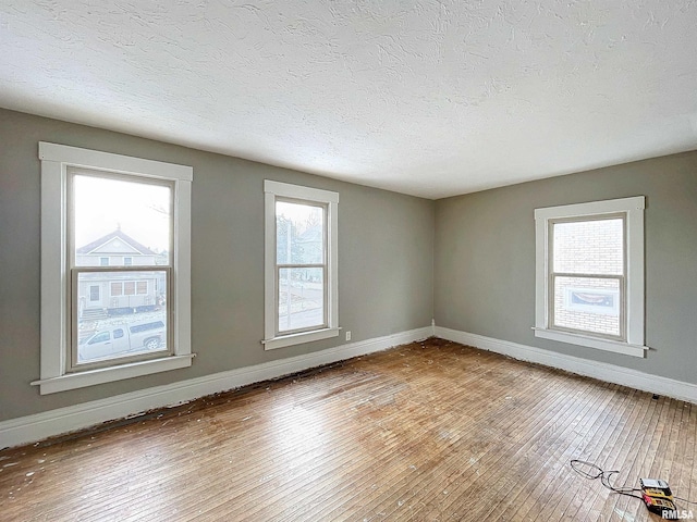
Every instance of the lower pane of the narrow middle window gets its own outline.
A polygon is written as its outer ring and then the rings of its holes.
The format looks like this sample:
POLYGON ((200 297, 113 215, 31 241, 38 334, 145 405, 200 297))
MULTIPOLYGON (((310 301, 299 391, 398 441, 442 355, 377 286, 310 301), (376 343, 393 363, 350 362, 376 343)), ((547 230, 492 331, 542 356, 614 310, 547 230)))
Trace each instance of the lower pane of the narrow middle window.
POLYGON ((279 332, 322 326, 323 269, 279 269, 279 332))

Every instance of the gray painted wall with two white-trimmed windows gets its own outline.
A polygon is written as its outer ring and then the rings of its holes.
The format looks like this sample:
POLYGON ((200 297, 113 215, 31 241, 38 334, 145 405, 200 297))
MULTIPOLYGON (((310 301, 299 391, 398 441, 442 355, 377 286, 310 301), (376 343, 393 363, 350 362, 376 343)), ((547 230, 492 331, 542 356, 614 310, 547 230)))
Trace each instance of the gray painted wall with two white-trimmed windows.
POLYGON ((352 341, 430 325, 435 203, 220 154, 0 110, 0 420, 345 344, 265 351, 264 179, 335 190, 339 320, 352 341), (40 396, 38 141, 192 165, 191 369, 40 396))

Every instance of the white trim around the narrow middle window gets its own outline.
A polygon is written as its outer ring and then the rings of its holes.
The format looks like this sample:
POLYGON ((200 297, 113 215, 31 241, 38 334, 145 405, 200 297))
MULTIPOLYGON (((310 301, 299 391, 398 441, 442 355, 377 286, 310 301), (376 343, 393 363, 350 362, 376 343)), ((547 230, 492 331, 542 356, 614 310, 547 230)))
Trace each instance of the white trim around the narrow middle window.
POLYGON ((339 336, 339 278, 337 261, 339 194, 318 188, 290 185, 266 179, 264 182, 264 212, 265 212, 265 277, 264 277, 264 344, 265 350, 272 350, 285 346, 299 345, 313 340, 327 339, 339 336), (277 198, 292 198, 327 206, 327 318, 328 326, 309 332, 289 335, 276 335, 276 200, 277 198))

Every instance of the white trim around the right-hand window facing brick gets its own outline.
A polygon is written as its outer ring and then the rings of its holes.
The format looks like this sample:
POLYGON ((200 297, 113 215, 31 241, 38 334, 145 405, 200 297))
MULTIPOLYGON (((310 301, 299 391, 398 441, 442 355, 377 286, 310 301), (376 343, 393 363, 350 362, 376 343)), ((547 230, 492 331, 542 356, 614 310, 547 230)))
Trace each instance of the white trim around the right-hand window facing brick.
POLYGON ((645 197, 592 201, 535 210, 535 336, 627 356, 645 357, 644 346, 644 209, 645 197), (548 324, 549 222, 602 214, 626 215, 626 341, 550 330, 548 324))

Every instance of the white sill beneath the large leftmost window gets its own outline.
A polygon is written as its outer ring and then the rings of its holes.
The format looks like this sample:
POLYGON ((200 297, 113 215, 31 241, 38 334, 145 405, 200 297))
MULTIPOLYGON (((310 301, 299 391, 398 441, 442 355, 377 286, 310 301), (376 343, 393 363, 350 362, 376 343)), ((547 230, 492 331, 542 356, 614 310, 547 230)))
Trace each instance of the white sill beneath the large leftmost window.
POLYGON ((84 388, 95 384, 111 383, 124 378, 139 377, 151 373, 168 372, 192 365, 194 353, 186 356, 172 356, 151 361, 132 362, 111 368, 100 368, 80 373, 68 373, 58 377, 34 381, 32 385, 39 386, 41 395, 56 394, 68 389, 84 388))

